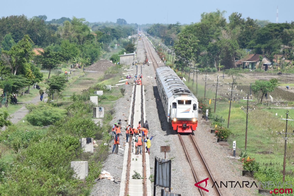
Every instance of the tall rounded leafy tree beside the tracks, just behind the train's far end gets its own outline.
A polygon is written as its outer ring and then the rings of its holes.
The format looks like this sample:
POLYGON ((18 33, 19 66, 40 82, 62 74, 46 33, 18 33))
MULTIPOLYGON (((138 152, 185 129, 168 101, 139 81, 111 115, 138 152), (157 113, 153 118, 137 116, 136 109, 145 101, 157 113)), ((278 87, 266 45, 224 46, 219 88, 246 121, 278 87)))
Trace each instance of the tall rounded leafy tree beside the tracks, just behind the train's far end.
MULTIPOLYGON (((176 56, 181 56, 185 58, 186 61, 190 61, 193 57, 193 54, 197 51, 197 42, 196 37, 189 31, 183 31, 178 34, 178 40, 175 41, 174 48, 176 56)), ((181 59, 179 60, 178 65, 183 66, 181 59)))

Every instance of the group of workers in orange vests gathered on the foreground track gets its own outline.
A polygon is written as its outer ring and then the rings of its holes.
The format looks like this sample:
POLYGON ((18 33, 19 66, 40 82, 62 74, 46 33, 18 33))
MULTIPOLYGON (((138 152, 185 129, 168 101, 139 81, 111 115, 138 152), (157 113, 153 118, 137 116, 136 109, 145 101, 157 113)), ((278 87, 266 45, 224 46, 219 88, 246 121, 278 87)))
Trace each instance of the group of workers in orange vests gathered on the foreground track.
MULTIPOLYGON (((114 123, 112 126, 112 136, 113 136, 113 148, 112 148, 112 153, 117 154, 118 153, 118 147, 120 145, 120 140, 119 136, 122 135, 121 133, 121 119, 119 119, 118 123, 114 123)), ((128 124, 126 127, 126 142, 128 142, 128 139, 130 136, 136 137, 135 138, 135 154, 139 154, 139 149, 140 149, 140 155, 142 154, 142 145, 143 142, 146 142, 146 153, 150 155, 150 147, 151 147, 151 138, 148 137, 148 131, 149 131, 149 125, 148 121, 146 120, 145 123, 143 124, 143 127, 141 127, 141 121, 139 121, 137 128, 131 128, 131 125, 128 124), (144 137, 144 140, 142 138, 144 137)))

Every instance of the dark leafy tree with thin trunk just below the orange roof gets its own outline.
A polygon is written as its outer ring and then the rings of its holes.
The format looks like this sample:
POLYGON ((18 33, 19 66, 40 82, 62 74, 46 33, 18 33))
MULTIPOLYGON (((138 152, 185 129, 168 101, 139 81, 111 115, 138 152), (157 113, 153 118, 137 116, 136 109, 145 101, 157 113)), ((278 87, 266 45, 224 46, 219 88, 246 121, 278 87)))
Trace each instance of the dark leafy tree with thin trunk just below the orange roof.
POLYGON ((41 55, 39 63, 43 68, 49 69, 48 79, 50 78, 51 69, 56 68, 61 62, 61 56, 59 52, 55 52, 50 46, 44 48, 44 52, 40 51, 41 55))

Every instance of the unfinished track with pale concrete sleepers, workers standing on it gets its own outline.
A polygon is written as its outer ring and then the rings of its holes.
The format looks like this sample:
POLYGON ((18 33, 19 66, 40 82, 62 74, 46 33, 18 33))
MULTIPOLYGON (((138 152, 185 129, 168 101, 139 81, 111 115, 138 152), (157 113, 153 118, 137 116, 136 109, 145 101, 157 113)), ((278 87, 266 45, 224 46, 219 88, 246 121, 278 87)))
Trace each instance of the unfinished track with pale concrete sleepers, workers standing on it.
MULTIPOLYGON (((138 74, 138 68, 136 70, 136 73, 138 74)), ((142 67, 141 67, 141 73, 142 73, 142 67)), ((133 91, 133 103, 131 108, 131 125, 132 128, 136 127, 136 121, 141 121, 143 124, 144 120, 144 99, 143 99, 143 93, 144 88, 143 85, 135 85, 134 91, 133 91), (140 111, 138 111, 138 105, 140 106, 140 111), (140 112, 140 115, 139 115, 140 112)), ((126 181, 125 181, 125 187, 124 187, 124 196, 147 196, 147 177, 146 177, 146 155, 145 155, 145 147, 144 143, 142 143, 142 163, 138 163, 135 161, 137 158, 140 159, 140 156, 134 155, 135 151, 135 142, 133 137, 129 138, 129 148, 128 148, 128 158, 127 158, 127 167, 126 167, 126 181), (141 171, 138 171, 138 169, 142 168, 142 174, 143 178, 140 179, 132 179, 131 176, 133 174, 133 170, 137 170, 138 173, 141 173, 141 171), (140 185, 142 188, 140 188, 140 185)), ((144 139, 144 138, 143 138, 144 139)), ((120 194, 122 195, 122 194, 120 194)))

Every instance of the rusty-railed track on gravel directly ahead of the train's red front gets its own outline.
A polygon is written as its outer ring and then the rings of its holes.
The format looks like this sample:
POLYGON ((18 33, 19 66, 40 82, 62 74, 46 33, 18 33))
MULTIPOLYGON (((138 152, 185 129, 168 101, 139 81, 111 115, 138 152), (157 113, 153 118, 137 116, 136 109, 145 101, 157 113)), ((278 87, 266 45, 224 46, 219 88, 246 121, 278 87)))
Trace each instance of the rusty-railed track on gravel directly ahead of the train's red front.
MULTIPOLYGON (((188 137, 190 138, 191 143, 193 143, 192 145, 194 146, 195 151, 193 151, 193 150, 191 151, 191 149, 189 149, 190 151, 186 150, 186 147, 185 147, 185 145, 184 145, 184 142, 183 142, 182 136, 181 136, 179 133, 178 133, 178 136, 179 136, 179 139, 180 139, 181 145, 182 145, 182 147, 183 147, 183 149, 184 149, 184 152, 185 152, 186 158, 187 158, 187 160, 188 160, 188 163, 189 163, 189 165, 190 165, 190 167, 191 167, 191 170, 192 170, 192 173, 193 173, 193 177, 194 177, 196 183, 199 182, 199 180, 198 180, 198 177, 197 177, 197 175, 196 175, 195 167, 194 167, 194 165, 193 165, 193 163, 192 163, 191 156, 190 156, 190 155, 195 156, 195 153, 196 153, 197 156, 198 156, 198 160, 201 160, 202 165, 203 165, 203 167, 204 167, 204 169, 205 169, 207 175, 209 176, 209 180, 210 180, 210 181, 212 182, 212 184, 213 184, 213 182, 214 182, 214 178, 213 178, 213 176, 212 176, 212 174, 211 174, 211 172, 210 172, 210 170, 209 170, 209 168, 208 168, 208 165, 206 164, 205 159, 203 158, 203 156, 202 156, 202 154, 201 154, 201 152, 200 152, 200 150, 199 150, 199 148, 198 148, 198 146, 197 146, 197 144, 196 144, 196 141, 194 140, 192 134, 189 134, 188 137), (194 152, 195 152, 195 153, 194 153, 194 152), (189 154, 190 154, 190 155, 189 155, 189 154)), ((188 145, 188 144, 186 144, 186 145, 188 145)), ((190 146, 190 145, 189 145, 189 146, 190 146)), ((200 188, 198 188, 198 190, 199 190, 201 196, 205 195, 205 194, 203 194, 203 191, 202 191, 200 188)), ((214 191, 215 191, 215 194, 214 194, 214 195, 221 196, 221 192, 220 192, 220 190, 218 189, 217 186, 214 186, 214 191)))

